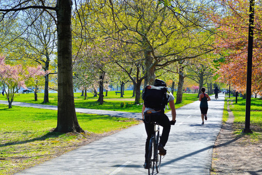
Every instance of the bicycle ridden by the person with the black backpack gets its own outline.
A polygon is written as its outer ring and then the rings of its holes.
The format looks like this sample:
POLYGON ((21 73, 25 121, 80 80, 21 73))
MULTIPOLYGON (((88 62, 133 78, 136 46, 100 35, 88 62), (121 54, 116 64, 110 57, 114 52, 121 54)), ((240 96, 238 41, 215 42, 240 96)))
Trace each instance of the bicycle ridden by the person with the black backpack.
POLYGON ((149 141, 149 148, 148 148, 149 153, 148 153, 147 162, 149 163, 149 166, 150 166, 150 168, 148 168, 148 175, 154 175, 155 167, 156 167, 157 173, 159 173, 160 165, 161 165, 161 158, 162 158, 162 156, 159 155, 158 153, 159 139, 161 136, 159 134, 159 124, 156 122, 154 122, 154 130, 155 132, 151 136, 151 139, 149 141), (156 126, 157 126, 157 129, 156 129, 156 126))

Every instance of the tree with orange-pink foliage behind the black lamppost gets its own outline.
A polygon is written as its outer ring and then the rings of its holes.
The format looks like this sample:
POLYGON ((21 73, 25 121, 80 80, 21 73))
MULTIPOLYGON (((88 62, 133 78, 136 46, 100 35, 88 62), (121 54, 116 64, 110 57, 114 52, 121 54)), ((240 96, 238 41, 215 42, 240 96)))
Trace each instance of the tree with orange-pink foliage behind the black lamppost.
MULTIPOLYGON (((217 75, 222 83, 230 84, 237 91, 245 93, 249 1, 232 0, 217 1, 219 11, 210 9, 209 19, 217 27, 216 44, 217 53, 223 58, 217 75), (223 12, 223 13, 221 13, 223 12)), ((261 28, 262 9, 260 3, 255 3, 254 41, 252 64, 252 91, 262 91, 262 48, 261 28)))

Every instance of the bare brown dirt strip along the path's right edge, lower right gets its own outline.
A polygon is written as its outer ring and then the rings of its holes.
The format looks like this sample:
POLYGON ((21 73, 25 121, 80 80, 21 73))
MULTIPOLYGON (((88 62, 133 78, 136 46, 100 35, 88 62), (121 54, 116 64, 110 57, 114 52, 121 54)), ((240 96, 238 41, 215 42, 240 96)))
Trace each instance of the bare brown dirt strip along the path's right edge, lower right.
MULTIPOLYGON (((229 106, 229 105, 227 105, 229 106)), ((236 136, 233 134, 235 127, 245 126, 243 124, 233 125, 234 116, 227 108, 229 117, 223 123, 221 131, 215 142, 212 155, 211 175, 262 175, 262 142, 252 140, 248 135, 236 136)), ((253 131, 260 127, 251 128, 253 131)))

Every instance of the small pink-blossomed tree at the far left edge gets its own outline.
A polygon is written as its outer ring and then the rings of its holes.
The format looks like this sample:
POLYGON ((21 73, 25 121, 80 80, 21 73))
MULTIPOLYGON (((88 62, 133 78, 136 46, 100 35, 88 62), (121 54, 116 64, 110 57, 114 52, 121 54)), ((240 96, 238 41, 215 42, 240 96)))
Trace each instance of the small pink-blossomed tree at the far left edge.
POLYGON ((12 108, 12 103, 18 90, 21 87, 26 88, 25 81, 29 78, 44 76, 45 72, 41 69, 41 66, 27 67, 25 69, 22 65, 11 66, 5 64, 4 56, 0 56, 0 82, 8 100, 8 108, 12 108))

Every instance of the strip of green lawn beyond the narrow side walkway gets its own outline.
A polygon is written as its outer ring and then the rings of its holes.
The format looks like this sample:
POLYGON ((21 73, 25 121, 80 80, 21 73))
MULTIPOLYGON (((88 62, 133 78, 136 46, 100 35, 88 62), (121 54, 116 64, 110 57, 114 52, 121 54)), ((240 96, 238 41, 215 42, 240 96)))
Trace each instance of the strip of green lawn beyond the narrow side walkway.
MULTIPOLYGON (((112 111, 125 111, 125 112, 141 112, 142 105, 134 105, 135 97, 132 97, 132 90, 125 90, 124 98, 120 98, 120 94, 116 95, 115 91, 108 91, 108 96, 104 97, 104 104, 99 105, 97 102, 98 97, 93 97, 93 94, 87 93, 87 100, 81 97, 81 93, 74 93, 75 107, 88 108, 88 109, 102 109, 112 111)), ((174 96, 176 94, 174 93, 174 96)), ((0 96, 0 100, 6 100, 4 96, 0 96)), ((44 100, 44 94, 38 93, 38 101, 35 101, 33 93, 18 94, 14 101, 41 104, 44 100)), ((190 104, 198 100, 197 94, 183 94, 182 103, 175 104, 175 108, 183 105, 190 104)), ((57 93, 49 94, 49 103, 47 105, 57 105, 57 93)), ((167 110, 168 111, 168 110, 167 110)))

